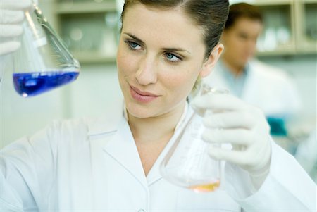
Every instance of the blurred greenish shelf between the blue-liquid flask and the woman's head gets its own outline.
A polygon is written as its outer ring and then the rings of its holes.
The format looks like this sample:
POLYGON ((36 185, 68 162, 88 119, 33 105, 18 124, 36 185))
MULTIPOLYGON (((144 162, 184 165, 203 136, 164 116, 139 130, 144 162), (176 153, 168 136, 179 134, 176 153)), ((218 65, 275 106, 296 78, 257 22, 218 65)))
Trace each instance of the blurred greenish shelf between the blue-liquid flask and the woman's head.
POLYGON ((58 33, 80 63, 115 63, 119 20, 115 0, 56 1, 58 33))

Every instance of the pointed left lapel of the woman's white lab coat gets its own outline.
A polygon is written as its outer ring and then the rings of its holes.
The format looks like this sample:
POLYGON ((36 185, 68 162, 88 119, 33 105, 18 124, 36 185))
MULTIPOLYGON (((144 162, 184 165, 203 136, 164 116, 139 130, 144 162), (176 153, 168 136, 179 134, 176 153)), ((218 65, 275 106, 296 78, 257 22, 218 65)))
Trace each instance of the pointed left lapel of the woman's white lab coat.
POLYGON ((122 118, 118 131, 104 146, 104 151, 128 170, 144 189, 147 189, 147 179, 144 175, 137 146, 135 146, 135 141, 125 118, 122 118))

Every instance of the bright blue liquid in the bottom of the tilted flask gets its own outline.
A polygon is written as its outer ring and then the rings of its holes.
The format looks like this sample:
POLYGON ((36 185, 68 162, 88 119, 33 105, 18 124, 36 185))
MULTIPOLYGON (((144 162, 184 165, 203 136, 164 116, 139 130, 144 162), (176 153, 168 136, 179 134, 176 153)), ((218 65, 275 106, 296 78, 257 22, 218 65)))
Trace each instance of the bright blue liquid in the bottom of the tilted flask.
POLYGON ((36 96, 61 85, 73 82, 79 72, 48 71, 33 73, 14 73, 13 83, 16 92, 23 97, 36 96))

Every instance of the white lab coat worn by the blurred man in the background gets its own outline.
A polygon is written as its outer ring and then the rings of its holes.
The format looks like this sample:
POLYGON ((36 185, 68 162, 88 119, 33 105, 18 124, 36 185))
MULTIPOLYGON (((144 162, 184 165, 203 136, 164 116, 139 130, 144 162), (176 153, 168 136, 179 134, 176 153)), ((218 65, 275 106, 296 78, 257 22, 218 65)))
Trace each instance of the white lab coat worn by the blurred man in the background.
MULTIPOLYGON (((221 73, 224 64, 218 63, 208 77, 208 85, 230 90, 228 80, 221 73)), ((249 61, 247 77, 240 97, 245 102, 259 107, 266 116, 283 118, 299 112, 301 101, 297 88, 284 71, 268 66, 256 59, 249 61)))

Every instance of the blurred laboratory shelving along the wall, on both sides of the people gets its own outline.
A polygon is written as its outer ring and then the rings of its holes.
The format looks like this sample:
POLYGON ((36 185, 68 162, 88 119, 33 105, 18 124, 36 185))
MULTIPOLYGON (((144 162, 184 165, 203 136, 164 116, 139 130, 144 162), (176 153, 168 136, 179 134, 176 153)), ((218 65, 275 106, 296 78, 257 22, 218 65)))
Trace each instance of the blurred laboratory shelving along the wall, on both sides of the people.
MULTIPOLYGON (((80 63, 115 63, 115 0, 54 0, 58 34, 80 63), (110 50, 109 50, 110 49, 110 50)), ((264 17, 257 56, 317 54, 317 0, 253 0, 264 17)))

